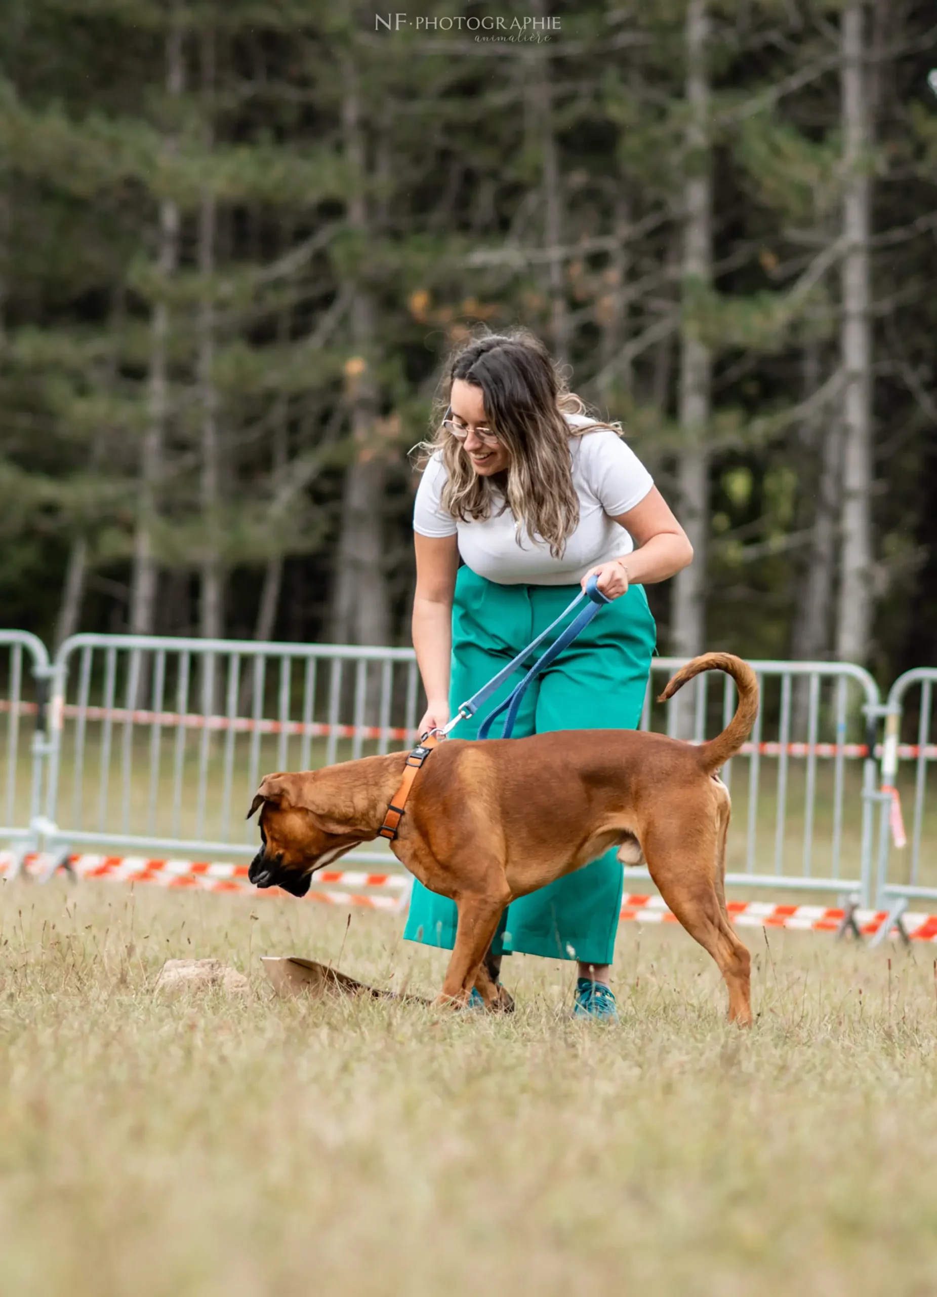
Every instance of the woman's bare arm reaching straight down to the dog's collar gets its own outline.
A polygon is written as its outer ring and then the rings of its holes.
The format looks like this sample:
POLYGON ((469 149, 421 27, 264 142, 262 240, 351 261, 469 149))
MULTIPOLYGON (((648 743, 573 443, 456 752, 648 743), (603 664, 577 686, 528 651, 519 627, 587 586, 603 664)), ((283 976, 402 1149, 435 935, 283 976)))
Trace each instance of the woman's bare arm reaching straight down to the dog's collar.
POLYGON ((413 597, 413 648, 426 691, 426 712, 420 733, 448 720, 448 680, 452 655, 452 597, 459 569, 455 536, 413 534, 416 594, 413 597))

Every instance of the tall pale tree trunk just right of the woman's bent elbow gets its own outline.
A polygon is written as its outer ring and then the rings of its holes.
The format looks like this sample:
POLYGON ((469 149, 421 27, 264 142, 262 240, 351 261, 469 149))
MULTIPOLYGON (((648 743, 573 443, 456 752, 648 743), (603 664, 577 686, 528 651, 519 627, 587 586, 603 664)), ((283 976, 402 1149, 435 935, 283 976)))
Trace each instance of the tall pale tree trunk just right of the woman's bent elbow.
MULTIPOLYGON (((683 281, 686 289, 708 287, 713 278, 713 182, 709 150, 709 78, 706 0, 689 0, 687 8, 687 182, 683 193, 683 281)), ((710 412, 711 357, 692 324, 683 323, 680 337, 679 420, 683 447, 677 466, 680 523, 693 546, 693 562, 674 581, 673 651, 693 658, 705 646, 706 538, 709 530, 709 453, 706 433, 710 412)), ((683 693, 687 693, 686 690, 683 693)), ((678 716, 688 715, 687 702, 678 716)), ((686 725, 679 726, 680 734, 686 725)))

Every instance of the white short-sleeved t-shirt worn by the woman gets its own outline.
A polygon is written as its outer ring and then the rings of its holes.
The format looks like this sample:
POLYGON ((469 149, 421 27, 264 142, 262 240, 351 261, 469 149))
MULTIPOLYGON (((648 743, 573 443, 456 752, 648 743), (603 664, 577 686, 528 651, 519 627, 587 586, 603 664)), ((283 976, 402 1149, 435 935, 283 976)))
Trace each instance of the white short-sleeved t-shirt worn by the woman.
MULTIPOLYGON (((594 422, 584 415, 566 415, 566 419, 578 427, 594 422)), ((457 536, 459 553, 468 567, 499 585, 573 585, 581 581, 590 568, 634 550, 631 536, 613 521, 613 516, 639 505, 654 482, 631 447, 608 428, 570 437, 569 450, 573 485, 579 497, 579 525, 566 541, 562 558, 552 558, 549 545, 542 538, 531 541, 526 527, 521 529, 518 545, 515 516, 509 508, 498 512, 498 494, 492 516, 487 519, 461 521, 443 510, 446 468, 439 451, 420 479, 413 530, 430 537, 457 536)))

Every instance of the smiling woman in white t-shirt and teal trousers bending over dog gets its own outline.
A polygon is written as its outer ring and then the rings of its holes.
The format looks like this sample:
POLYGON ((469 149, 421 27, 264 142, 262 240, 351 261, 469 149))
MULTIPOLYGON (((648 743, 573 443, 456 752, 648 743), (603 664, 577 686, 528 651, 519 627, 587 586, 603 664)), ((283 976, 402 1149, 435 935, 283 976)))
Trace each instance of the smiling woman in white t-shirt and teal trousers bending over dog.
MULTIPOLYGON (((413 647, 428 700, 420 733, 443 726, 592 575, 613 602, 534 680, 515 735, 635 729, 656 639, 644 585, 691 562, 683 528, 617 431, 583 415, 526 331, 459 350, 442 397, 413 510, 413 647)), ((474 738, 518 678, 454 737, 474 738)), ((512 951, 575 958, 575 1014, 614 1018, 621 898, 613 850, 513 901, 491 943, 495 981, 512 951)), ((404 936, 451 949, 455 927, 455 903, 416 882, 404 936)))

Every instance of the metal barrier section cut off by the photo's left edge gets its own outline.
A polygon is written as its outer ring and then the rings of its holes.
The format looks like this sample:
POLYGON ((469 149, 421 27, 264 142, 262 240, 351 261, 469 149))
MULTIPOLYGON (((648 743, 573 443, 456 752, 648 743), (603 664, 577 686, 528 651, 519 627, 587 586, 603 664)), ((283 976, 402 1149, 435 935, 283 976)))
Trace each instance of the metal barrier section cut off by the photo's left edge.
MULTIPOLYGON (((43 831, 43 774, 51 755, 45 645, 26 630, 0 630, 0 838, 17 844, 16 861, 43 831), (29 746, 23 720, 34 719, 29 746)), ((16 872, 17 865, 14 864, 16 872)))

